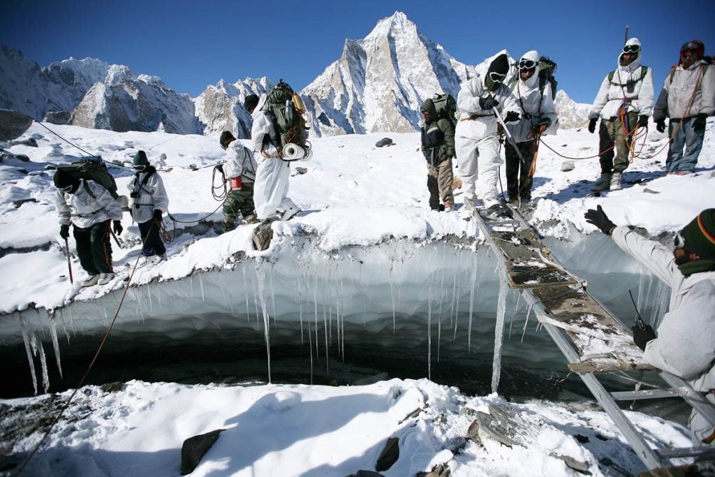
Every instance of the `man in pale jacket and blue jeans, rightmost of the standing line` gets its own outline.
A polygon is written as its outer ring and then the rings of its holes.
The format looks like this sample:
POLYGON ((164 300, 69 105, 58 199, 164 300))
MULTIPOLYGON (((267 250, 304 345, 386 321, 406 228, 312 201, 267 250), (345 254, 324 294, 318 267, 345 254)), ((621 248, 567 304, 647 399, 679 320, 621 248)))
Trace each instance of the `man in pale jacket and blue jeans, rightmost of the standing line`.
POLYGON ((673 140, 666 158, 669 174, 693 172, 705 139, 706 119, 715 114, 715 65, 705 62, 704 54, 700 40, 681 46, 680 62, 666 77, 654 108, 659 132, 666 129, 666 117, 671 119, 668 134, 673 140))

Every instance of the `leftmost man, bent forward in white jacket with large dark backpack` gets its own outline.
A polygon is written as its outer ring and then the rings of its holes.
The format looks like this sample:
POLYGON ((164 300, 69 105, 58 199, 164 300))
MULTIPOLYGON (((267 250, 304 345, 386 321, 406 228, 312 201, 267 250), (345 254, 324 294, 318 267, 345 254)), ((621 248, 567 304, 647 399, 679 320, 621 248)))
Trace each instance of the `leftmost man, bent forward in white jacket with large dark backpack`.
POLYGON ((114 279, 112 244, 109 243, 110 222, 114 233, 122 233, 122 206, 107 189, 93 180, 71 177, 58 170, 54 174, 57 188, 55 205, 59 214, 59 235, 69 237, 71 224, 77 255, 89 278, 83 287, 104 285, 114 279))

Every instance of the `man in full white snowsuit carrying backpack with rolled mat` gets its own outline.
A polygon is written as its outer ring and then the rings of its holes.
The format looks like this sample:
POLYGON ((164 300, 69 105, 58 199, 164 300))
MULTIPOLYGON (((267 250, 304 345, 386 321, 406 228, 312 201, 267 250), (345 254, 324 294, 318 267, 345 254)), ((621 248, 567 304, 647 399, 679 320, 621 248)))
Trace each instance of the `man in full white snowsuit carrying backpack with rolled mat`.
POLYGON ((245 99, 246 110, 253 118, 251 141, 258 167, 253 190, 253 203, 260 220, 280 218, 287 220, 300 209, 288 198, 290 162, 283 161, 278 154, 277 132, 270 112, 268 97, 260 99, 251 94, 245 99))

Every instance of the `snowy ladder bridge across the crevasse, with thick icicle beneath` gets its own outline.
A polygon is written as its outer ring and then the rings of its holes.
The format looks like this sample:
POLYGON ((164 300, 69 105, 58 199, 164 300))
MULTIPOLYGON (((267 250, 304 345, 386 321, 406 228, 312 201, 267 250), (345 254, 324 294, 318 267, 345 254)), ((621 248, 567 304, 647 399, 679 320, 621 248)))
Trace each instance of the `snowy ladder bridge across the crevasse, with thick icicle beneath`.
MULTIPOLYGON (((504 205, 503 207, 506 207, 504 205)), ((681 378, 656 370, 646 363, 635 344, 631 330, 588 292, 588 284, 566 270, 538 237, 538 232, 510 208, 512 218, 491 219, 475 213, 485 242, 496 255, 503 282, 521 292, 540 325, 548 332, 566 358, 568 370, 576 373, 603 410, 618 426, 641 461, 650 470, 665 468, 669 459, 697 457, 712 453, 711 446, 651 448, 641 431, 618 406, 619 400, 682 398, 691 408, 715 423, 715 405, 681 378), (605 373, 643 373, 653 371, 664 388, 609 392, 601 383, 605 373)), ((505 292, 501 291, 500 302, 505 292)), ((504 304, 498 308, 503 310, 504 304)), ((499 313, 498 313, 499 315, 499 313)), ((527 315, 528 316, 528 315, 527 315)), ((501 366, 504 320, 495 329, 492 392, 497 392, 501 366)), ((636 379, 636 383, 640 380, 636 379)))

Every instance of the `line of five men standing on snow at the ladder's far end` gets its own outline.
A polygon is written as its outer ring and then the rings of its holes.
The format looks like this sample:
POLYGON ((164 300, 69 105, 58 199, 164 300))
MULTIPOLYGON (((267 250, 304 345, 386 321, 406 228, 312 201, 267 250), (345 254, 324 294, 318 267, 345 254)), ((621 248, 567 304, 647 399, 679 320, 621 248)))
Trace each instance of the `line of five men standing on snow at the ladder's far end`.
MULTIPOLYGON (((601 176, 593 191, 621 189, 633 137, 637 127, 647 126, 651 114, 659 132, 665 131, 666 118, 670 118, 666 172, 689 174, 696 167, 706 117, 715 112, 715 68, 706 61, 705 46, 700 40, 681 46, 679 64, 666 76, 655 107, 653 72, 641 65, 641 53, 637 38, 626 41, 618 54, 618 67, 604 77, 588 115, 591 133, 601 119, 601 176)), ((455 128, 438 120, 431 100, 423 103, 422 150, 428 158, 430 208, 453 210, 451 162, 458 158, 465 209, 473 211, 479 196, 488 215, 508 213, 499 205, 496 189, 503 163, 497 113, 505 114, 508 133, 516 142, 516 148, 507 142, 505 151, 508 201, 523 205, 531 200, 531 162, 538 137, 553 134, 558 122, 551 84, 539 87, 539 59, 534 50, 523 54, 517 64, 518 79, 511 84, 506 84, 510 69, 506 51, 488 59, 485 72, 462 84, 457 98, 460 119, 455 128)))

